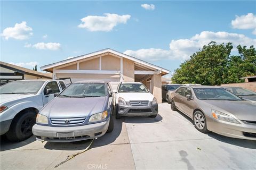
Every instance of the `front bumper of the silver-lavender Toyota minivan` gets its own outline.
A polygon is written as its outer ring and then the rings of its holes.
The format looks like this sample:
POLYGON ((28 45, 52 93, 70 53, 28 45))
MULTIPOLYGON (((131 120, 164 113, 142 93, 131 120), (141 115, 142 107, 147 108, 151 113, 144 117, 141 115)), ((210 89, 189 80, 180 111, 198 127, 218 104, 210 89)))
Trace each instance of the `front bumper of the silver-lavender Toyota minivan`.
POLYGON ((53 127, 35 124, 33 134, 39 141, 74 142, 101 137, 108 130, 109 118, 105 122, 83 126, 53 127))

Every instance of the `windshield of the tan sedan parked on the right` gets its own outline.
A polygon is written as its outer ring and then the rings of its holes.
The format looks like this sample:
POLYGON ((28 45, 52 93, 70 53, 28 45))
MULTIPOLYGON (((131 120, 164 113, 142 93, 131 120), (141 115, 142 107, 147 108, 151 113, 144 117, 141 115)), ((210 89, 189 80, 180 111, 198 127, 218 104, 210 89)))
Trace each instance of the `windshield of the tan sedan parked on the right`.
POLYGON ((194 92, 200 100, 243 100, 222 88, 194 88, 194 92))

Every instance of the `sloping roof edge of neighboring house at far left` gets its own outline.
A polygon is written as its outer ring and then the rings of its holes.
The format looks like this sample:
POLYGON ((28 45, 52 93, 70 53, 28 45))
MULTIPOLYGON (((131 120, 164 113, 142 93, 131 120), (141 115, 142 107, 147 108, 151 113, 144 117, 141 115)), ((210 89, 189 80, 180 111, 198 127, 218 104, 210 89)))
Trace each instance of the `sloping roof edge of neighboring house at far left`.
POLYGON ((9 70, 17 71, 17 72, 22 73, 22 74, 25 73, 25 74, 28 74, 28 75, 34 75, 36 77, 52 79, 52 74, 51 73, 41 73, 41 72, 38 72, 38 71, 26 69, 26 68, 20 67, 18 65, 13 65, 13 64, 1 62, 1 61, 0 61, 0 66, 4 67, 6 69, 9 69, 9 70))

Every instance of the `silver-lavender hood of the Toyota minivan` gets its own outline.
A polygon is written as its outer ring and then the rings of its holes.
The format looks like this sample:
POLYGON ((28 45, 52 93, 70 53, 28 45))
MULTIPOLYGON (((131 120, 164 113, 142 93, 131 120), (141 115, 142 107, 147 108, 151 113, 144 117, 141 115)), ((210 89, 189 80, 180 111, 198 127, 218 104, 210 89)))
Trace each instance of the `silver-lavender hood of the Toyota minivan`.
POLYGON ((49 118, 88 117, 103 112, 107 97, 62 98, 56 97, 41 111, 49 118))

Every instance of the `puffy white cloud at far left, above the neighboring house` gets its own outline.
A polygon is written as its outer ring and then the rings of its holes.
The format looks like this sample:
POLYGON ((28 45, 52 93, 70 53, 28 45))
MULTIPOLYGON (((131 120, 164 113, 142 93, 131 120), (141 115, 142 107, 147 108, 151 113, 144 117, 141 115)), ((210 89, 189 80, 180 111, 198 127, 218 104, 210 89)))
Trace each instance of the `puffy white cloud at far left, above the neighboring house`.
POLYGON ((16 23, 14 27, 7 27, 1 33, 6 40, 9 38, 14 38, 18 40, 28 39, 33 35, 33 29, 27 26, 27 22, 22 21, 21 23, 16 23))

